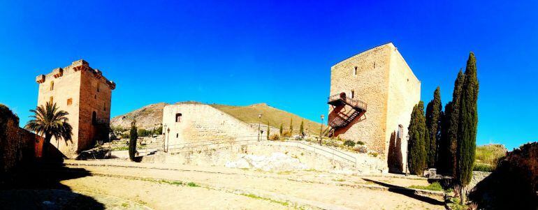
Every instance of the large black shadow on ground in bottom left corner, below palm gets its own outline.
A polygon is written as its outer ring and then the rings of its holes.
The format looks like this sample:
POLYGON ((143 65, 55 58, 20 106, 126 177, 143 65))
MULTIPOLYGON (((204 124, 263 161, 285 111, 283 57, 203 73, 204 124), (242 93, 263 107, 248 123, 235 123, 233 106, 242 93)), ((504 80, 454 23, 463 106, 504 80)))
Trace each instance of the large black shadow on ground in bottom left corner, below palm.
POLYGON ((8 181, 0 186, 0 209, 105 209, 93 197, 74 193, 60 183, 89 175, 87 170, 68 169, 61 163, 21 167, 3 177, 8 181))

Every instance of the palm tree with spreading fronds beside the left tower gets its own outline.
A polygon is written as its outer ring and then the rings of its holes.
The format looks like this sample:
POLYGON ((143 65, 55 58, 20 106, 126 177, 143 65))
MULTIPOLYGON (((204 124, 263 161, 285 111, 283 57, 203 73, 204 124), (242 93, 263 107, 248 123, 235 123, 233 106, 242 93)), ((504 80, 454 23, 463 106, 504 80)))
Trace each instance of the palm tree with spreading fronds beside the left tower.
POLYGON ((56 140, 64 139, 67 144, 67 141, 71 141, 71 136, 73 135, 73 127, 68 123, 68 118, 66 117, 69 113, 63 110, 59 110, 56 103, 47 103, 45 107, 43 105, 36 107, 36 110, 30 110, 34 115, 30 116, 31 119, 28 121, 24 128, 34 131, 38 135, 45 135, 45 142, 43 143, 43 158, 45 158, 48 152, 48 144, 52 137, 56 140))

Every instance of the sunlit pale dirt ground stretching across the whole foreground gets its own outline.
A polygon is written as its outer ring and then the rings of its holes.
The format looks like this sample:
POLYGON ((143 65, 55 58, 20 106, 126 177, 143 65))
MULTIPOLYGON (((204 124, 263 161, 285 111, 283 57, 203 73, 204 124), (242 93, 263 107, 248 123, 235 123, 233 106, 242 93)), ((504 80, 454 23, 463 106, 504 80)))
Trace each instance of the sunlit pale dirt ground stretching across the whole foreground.
POLYGON ((391 177, 367 177, 368 179, 365 179, 364 177, 324 174, 321 172, 275 174, 249 170, 219 169, 218 167, 211 167, 209 171, 196 167, 190 167, 190 170, 87 165, 70 165, 68 167, 87 170, 94 175, 98 175, 96 177, 62 181, 64 185, 73 188, 73 190, 91 189, 97 193, 130 197, 131 200, 136 199, 140 203, 147 203, 149 207, 155 209, 169 209, 172 206, 167 203, 175 203, 175 201, 185 205, 198 204, 200 205, 198 208, 207 207, 208 209, 215 207, 220 207, 219 209, 221 209, 224 204, 230 205, 224 207, 226 209, 242 209, 242 207, 244 209, 275 209, 275 207, 282 209, 289 208, 294 204, 305 204, 305 207, 319 207, 321 209, 444 209, 442 197, 427 197, 391 192, 389 190, 342 186, 342 183, 348 183, 348 185, 352 183, 372 185, 384 183, 394 186, 427 184, 425 180, 420 179, 391 177), (145 181, 133 179, 143 179, 145 181), (156 183, 155 179, 175 180, 183 183, 194 182, 212 190, 170 186, 168 183, 156 183), (134 183, 134 185, 123 187, 125 185, 123 182, 134 183), (253 194, 256 196, 247 197, 240 194, 253 194), (170 200, 170 195, 175 195, 173 196, 175 198, 170 200), (228 196, 226 200, 216 199, 217 197, 226 196, 228 196), (189 198, 182 200, 182 197, 189 198), (285 202, 289 206, 286 207, 282 204, 263 200, 260 197, 285 202), (235 202, 240 205, 234 206, 235 202))

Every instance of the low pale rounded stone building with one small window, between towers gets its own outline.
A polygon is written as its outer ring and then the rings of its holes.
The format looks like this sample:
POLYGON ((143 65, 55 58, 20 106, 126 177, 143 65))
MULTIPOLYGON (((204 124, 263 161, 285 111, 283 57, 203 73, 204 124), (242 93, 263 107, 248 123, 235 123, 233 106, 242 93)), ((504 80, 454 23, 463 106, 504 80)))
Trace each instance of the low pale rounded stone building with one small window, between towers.
POLYGON ((205 140, 252 140, 257 138, 258 130, 210 105, 182 103, 164 107, 163 133, 166 145, 177 145, 205 140))

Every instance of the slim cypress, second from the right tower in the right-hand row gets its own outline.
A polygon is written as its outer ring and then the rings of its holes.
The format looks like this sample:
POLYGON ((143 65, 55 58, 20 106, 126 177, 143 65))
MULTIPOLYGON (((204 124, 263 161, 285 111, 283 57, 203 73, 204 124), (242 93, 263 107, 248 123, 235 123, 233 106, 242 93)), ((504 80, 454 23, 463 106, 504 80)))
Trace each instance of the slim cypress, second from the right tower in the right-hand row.
POLYGON ((426 127, 428 128, 428 139, 426 139, 426 150, 428 151, 428 167, 435 167, 437 161, 437 146, 441 137, 441 91, 439 87, 433 92, 433 99, 426 107, 426 127))

